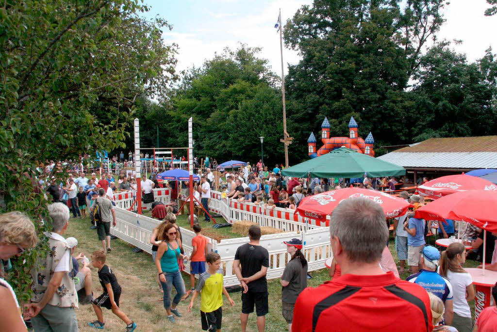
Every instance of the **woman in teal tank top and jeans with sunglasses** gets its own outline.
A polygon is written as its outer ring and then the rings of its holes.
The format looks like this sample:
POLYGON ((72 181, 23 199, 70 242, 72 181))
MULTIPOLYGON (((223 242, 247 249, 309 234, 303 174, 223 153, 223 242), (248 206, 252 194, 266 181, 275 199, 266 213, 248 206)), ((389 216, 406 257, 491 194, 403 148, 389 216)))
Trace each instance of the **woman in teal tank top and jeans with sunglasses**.
POLYGON ((164 308, 167 312, 167 319, 174 323, 175 319, 172 314, 176 317, 182 316, 176 310, 176 306, 185 293, 185 284, 179 271, 178 258, 185 258, 186 256, 181 254, 181 240, 177 236, 177 230, 174 225, 167 225, 164 229, 164 234, 158 234, 158 238, 165 240, 157 250, 156 267, 164 290, 164 308), (176 289, 176 295, 171 305, 172 286, 176 289))

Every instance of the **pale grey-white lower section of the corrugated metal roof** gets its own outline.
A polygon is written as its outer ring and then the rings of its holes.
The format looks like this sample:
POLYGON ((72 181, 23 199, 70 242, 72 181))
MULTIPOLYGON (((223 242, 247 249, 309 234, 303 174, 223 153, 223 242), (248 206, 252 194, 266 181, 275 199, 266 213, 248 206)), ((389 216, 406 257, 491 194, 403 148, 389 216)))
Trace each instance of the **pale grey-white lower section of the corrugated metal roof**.
MULTIPOLYGON (((494 136, 496 137, 496 136, 494 136)), ((406 148, 410 149, 410 148, 406 148)), ((497 168, 497 152, 400 152, 400 149, 381 157, 405 168, 497 168)))

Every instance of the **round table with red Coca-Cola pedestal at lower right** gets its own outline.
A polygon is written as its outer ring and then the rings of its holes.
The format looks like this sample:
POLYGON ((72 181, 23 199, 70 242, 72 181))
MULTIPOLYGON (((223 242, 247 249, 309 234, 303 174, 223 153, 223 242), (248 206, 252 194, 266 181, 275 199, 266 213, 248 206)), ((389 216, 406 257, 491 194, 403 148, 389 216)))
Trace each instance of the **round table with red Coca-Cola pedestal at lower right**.
MULTIPOLYGON (((489 265, 489 264, 487 264, 489 265)), ((480 316, 483 309, 490 306, 491 289, 497 282, 497 271, 485 270, 481 268, 465 268, 473 278, 475 285, 475 321, 480 316)))

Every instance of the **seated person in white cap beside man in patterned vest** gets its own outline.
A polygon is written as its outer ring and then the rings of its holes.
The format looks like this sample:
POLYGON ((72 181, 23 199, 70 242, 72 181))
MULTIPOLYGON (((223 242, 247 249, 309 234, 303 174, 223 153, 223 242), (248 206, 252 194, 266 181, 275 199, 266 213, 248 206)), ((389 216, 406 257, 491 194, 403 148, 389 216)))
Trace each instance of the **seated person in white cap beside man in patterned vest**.
POLYGON ((89 304, 91 300, 93 300, 93 295, 91 293, 91 270, 88 267, 89 260, 83 252, 80 252, 76 257, 74 256, 74 251, 76 250, 76 246, 78 246, 78 240, 76 238, 67 238, 66 241, 67 247, 71 249, 71 258, 73 260, 73 270, 69 272, 69 275, 74 280, 74 286, 78 292, 79 303, 89 304), (83 267, 80 267, 80 260, 83 263, 83 267))

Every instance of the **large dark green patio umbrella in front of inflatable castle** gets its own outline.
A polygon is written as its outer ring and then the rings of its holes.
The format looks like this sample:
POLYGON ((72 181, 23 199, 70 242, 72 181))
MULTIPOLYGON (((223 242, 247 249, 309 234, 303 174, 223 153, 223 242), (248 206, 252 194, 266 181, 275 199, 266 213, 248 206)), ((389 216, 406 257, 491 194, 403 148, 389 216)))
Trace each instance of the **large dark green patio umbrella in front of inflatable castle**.
POLYGON ((310 159, 281 170, 283 175, 292 177, 368 177, 400 176, 406 170, 394 164, 370 157, 344 147, 327 153, 326 155, 310 159))

